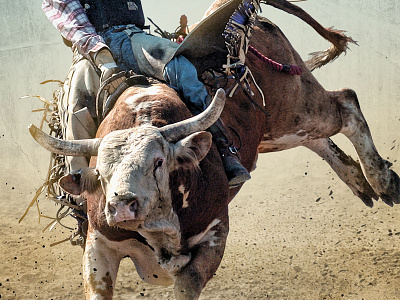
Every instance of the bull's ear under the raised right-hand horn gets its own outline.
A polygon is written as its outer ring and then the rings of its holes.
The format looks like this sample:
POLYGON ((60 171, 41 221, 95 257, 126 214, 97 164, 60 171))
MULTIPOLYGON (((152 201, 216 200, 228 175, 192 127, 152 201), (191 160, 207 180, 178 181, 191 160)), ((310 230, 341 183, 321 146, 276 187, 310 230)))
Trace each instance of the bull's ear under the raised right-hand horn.
POLYGON ((200 131, 189 135, 175 144, 175 160, 184 168, 196 167, 207 155, 212 144, 211 133, 200 131))

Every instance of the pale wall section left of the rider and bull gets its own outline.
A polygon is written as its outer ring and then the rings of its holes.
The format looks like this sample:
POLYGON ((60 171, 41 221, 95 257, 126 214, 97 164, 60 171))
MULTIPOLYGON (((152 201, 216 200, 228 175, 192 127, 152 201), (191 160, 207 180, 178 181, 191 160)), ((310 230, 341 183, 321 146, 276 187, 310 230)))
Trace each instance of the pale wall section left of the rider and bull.
POLYGON ((0 197, 1 203, 34 192, 48 165, 48 154, 37 147, 27 126, 38 124, 31 113, 42 104, 23 95, 50 97, 47 79, 63 79, 71 60, 69 49, 41 11, 40 0, 0 3, 0 197), (14 188, 14 189, 13 189, 14 188))

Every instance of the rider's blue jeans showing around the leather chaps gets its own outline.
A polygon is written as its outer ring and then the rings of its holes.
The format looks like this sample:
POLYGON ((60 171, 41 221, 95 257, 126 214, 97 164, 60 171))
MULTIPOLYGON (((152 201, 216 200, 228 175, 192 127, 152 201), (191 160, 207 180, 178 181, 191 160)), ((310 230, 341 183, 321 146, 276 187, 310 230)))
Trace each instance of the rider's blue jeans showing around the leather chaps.
MULTIPOLYGON (((121 70, 133 70, 137 74, 143 74, 144 71, 140 70, 135 59, 130 38, 122 31, 124 27, 113 27, 100 35, 110 47, 121 70)), ((161 71, 166 83, 183 97, 183 101, 193 114, 198 114, 206 108, 207 89, 197 78, 196 68, 186 57, 173 58, 161 71)))

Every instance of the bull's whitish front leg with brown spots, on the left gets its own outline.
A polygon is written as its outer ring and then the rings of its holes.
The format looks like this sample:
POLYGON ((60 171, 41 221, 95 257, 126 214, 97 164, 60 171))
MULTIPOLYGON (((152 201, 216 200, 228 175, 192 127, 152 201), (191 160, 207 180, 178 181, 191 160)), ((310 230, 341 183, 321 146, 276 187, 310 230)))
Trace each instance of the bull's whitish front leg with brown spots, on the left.
POLYGON ((112 299, 121 259, 109 241, 89 227, 83 255, 86 299, 112 299))

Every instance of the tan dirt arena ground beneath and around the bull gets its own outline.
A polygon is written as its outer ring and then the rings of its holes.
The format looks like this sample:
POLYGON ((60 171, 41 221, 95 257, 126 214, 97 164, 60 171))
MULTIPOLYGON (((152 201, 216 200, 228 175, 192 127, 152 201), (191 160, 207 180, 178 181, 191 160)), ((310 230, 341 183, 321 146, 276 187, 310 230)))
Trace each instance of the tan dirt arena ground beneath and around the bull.
MULTIPOLYGON (((400 299, 399 208, 365 207, 317 156, 288 152, 261 156, 231 203, 225 256, 200 299, 400 299)), ((81 249, 50 247, 69 231, 41 232, 35 210, 18 224, 30 199, 7 188, 23 204, 10 211, 1 202, 1 298, 82 299, 81 249)), ((172 287, 142 282, 128 260, 115 294, 174 299, 172 287)))

